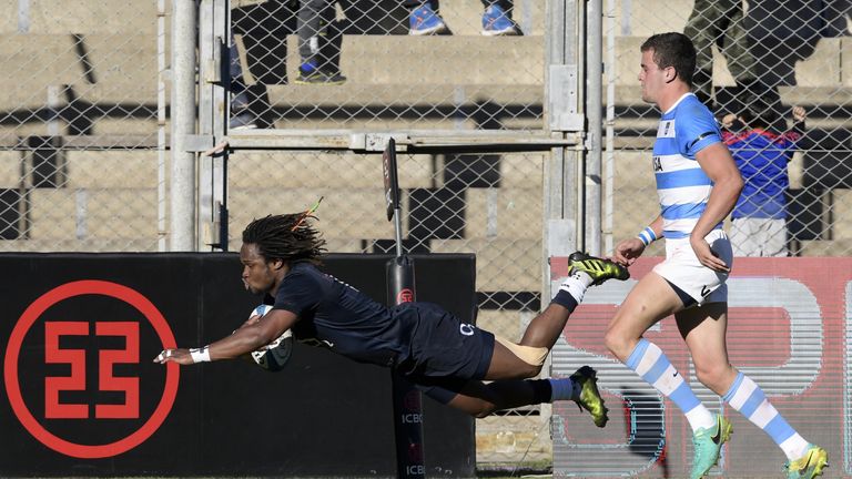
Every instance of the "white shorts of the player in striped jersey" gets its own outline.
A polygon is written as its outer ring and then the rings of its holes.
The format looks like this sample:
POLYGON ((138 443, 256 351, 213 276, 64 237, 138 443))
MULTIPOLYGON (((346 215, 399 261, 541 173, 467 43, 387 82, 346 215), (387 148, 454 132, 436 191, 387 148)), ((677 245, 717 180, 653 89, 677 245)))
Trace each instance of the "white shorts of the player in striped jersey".
MULTIPOLYGON (((731 242, 722 230, 713 230, 704 236, 719 258, 730 268, 733 265, 731 242)), ((688 294, 699 305, 728 300, 728 273, 719 273, 702 265, 689 244, 689 237, 666 240, 666 261, 653 272, 688 294)))

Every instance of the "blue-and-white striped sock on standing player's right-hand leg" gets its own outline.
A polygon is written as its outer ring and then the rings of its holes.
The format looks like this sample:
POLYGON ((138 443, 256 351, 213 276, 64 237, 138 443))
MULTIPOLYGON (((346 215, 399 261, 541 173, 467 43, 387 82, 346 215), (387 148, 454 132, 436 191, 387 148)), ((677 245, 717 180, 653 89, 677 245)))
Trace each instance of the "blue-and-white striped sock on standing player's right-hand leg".
POLYGON ((738 374, 722 399, 754 426, 763 429, 763 432, 768 434, 784 451, 788 459, 799 459, 808 451, 808 441, 787 422, 778 409, 769 402, 760 386, 748 376, 738 374))

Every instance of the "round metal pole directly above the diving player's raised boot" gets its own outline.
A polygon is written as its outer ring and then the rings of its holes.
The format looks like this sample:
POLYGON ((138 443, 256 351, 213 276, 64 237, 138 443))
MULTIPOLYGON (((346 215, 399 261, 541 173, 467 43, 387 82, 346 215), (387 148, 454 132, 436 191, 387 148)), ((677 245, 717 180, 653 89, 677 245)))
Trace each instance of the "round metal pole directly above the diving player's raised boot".
POLYGON ((588 136, 586 146, 586 249, 592 255, 600 255, 600 203, 601 203, 601 134, 604 130, 601 101, 604 77, 602 30, 604 11, 601 0, 589 0, 586 22, 586 116, 588 136))

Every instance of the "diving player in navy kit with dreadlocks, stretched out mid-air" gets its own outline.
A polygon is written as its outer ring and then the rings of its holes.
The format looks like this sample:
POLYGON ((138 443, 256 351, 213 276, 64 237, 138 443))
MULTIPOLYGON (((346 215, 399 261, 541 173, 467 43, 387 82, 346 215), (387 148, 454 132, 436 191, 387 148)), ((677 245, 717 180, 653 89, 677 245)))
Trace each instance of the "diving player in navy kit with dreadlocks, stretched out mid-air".
POLYGON ((498 409, 574 400, 607 424, 596 373, 584 366, 566 378, 537 376, 587 287, 627 279, 623 266, 574 253, 569 277, 518 343, 462 323, 429 303, 386 307, 323 274, 325 241, 312 210, 254 220, 243 231, 240 261, 246 289, 272 309, 248 318, 233 334, 202 348, 170 348, 155 363, 191 365, 233 359, 261 349, 287 330, 300 343, 349 359, 394 368, 433 399, 476 417, 498 409), (488 380, 489 383, 484 383, 488 380))

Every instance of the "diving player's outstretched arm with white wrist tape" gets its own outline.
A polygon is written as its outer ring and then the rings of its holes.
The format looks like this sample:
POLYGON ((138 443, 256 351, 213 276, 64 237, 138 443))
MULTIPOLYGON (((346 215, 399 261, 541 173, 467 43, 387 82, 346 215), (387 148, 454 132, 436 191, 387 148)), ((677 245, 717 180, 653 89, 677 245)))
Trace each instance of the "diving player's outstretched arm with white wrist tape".
POLYGON ((160 353, 154 363, 169 361, 180 365, 191 365, 220 359, 233 359, 260 349, 278 338, 295 324, 294 313, 284 309, 273 309, 254 324, 243 325, 232 335, 197 349, 165 349, 160 353))

